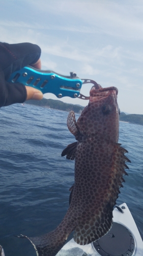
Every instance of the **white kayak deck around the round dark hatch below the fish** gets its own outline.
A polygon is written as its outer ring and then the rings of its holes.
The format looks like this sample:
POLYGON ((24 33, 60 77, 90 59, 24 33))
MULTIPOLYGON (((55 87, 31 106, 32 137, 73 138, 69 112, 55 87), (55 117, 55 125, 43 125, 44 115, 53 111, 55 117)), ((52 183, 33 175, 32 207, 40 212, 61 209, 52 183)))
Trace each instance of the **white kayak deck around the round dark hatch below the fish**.
MULTIPOLYGON (((140 237, 137 226, 134 222, 134 219, 131 215, 131 212, 129 211, 129 208, 126 205, 126 203, 121 204, 119 207, 122 209, 123 213, 121 211, 119 211, 117 208, 115 208, 113 210, 113 223, 122 224, 123 228, 126 227, 127 230, 129 232, 131 232, 133 239, 131 239, 130 240, 131 242, 129 241, 129 243, 131 243, 131 246, 132 246, 132 244, 134 244, 132 249, 131 249, 132 251, 125 250, 125 253, 122 252, 122 254, 117 253, 117 252, 115 252, 115 254, 110 254, 109 252, 106 252, 106 248, 105 248, 104 252, 102 250, 103 254, 100 254, 95 249, 95 247, 93 246, 93 243, 91 243, 89 245, 78 245, 77 243, 74 242, 73 239, 71 239, 67 244, 64 245, 64 247, 58 252, 58 254, 56 254, 56 256, 86 256, 86 255, 88 255, 88 256, 99 256, 99 255, 105 255, 105 256, 114 256, 114 255, 115 256, 117 256, 117 255, 119 255, 119 256, 120 255, 121 256, 122 255, 123 256, 130 256, 130 255, 132 255, 132 256, 143 256, 143 242, 142 242, 142 239, 140 237)), ((126 231, 126 228, 125 228, 125 231, 126 231)), ((108 236, 107 237, 108 241, 109 241, 110 233, 111 233, 111 230, 109 231, 109 233, 107 235, 108 236)), ((103 238, 106 239, 105 236, 103 238)), ((98 240, 98 242, 100 242, 100 240, 98 240)), ((119 243, 120 242, 121 242, 121 239, 120 239, 119 243)), ((117 245, 119 245, 119 244, 117 243, 117 245)), ((126 246, 128 246, 128 245, 126 245, 126 246)), ((126 247, 126 246, 123 245, 123 247, 126 247)), ((122 244, 120 244, 120 247, 122 247, 122 244)), ((98 250, 101 251, 99 246, 98 246, 98 250)), ((110 248, 109 248, 109 251, 110 251, 110 248)), ((122 251, 122 249, 121 249, 121 251, 122 251)))

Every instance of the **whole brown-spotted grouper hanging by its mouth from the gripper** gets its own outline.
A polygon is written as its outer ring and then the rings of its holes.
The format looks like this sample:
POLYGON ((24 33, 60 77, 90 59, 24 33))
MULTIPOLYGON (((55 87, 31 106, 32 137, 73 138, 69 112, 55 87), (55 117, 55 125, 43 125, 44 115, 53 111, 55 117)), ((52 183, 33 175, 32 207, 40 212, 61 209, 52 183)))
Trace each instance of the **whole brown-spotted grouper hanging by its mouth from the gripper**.
MULTIPOLYGON (((112 211, 127 175, 128 153, 119 139, 119 106, 116 87, 93 86, 89 104, 77 122, 71 111, 67 118, 69 131, 76 142, 62 152, 75 159, 74 185, 70 188, 70 206, 53 231, 40 237, 26 237, 38 256, 55 256, 69 234, 77 244, 86 245, 103 237, 112 226, 112 211)), ((128 168, 129 169, 129 168, 128 168)))

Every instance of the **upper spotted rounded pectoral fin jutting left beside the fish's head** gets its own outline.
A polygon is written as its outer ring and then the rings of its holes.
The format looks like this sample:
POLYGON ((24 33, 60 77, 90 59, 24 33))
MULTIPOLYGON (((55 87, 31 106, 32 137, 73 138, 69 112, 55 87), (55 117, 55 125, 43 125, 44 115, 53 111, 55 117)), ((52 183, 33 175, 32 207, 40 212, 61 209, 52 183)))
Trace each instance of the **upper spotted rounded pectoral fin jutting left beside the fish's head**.
POLYGON ((70 111, 68 118, 67 118, 67 126, 69 131, 76 136, 79 133, 79 129, 75 120, 75 113, 70 111))

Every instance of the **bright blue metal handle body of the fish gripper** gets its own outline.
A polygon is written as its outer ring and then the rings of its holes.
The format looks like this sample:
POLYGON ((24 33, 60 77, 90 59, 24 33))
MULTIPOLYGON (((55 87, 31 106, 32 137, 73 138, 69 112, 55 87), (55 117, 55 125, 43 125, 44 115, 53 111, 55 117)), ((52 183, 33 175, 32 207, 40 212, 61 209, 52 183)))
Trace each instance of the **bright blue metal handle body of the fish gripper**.
POLYGON ((43 94, 53 93, 58 98, 64 96, 77 98, 82 86, 81 79, 74 72, 70 72, 70 76, 63 76, 50 70, 43 71, 30 66, 12 73, 8 81, 23 83, 24 86, 36 88, 43 94))

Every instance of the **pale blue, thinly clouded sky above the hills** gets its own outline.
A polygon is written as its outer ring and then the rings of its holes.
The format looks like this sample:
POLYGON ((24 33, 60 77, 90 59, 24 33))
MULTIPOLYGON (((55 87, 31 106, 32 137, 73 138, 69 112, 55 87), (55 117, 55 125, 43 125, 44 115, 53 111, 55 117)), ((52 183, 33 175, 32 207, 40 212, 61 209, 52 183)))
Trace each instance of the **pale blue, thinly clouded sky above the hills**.
MULTIPOLYGON (((142 0, 0 0, 1 41, 32 42, 43 70, 76 72, 119 90, 120 110, 143 114, 142 0)), ((92 84, 81 93, 89 96, 92 84)), ((53 94, 45 98, 58 99, 53 94)), ((63 97, 85 106, 87 100, 63 97)))

